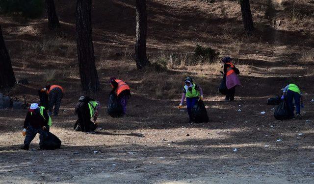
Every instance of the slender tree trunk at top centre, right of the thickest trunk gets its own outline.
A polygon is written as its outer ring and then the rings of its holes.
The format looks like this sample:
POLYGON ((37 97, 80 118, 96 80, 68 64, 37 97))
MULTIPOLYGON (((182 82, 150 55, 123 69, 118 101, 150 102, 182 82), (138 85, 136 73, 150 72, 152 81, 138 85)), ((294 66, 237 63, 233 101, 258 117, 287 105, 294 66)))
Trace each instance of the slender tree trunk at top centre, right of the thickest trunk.
POLYGON ((137 69, 142 69, 150 62, 146 55, 147 15, 146 0, 136 0, 136 44, 135 61, 137 69))

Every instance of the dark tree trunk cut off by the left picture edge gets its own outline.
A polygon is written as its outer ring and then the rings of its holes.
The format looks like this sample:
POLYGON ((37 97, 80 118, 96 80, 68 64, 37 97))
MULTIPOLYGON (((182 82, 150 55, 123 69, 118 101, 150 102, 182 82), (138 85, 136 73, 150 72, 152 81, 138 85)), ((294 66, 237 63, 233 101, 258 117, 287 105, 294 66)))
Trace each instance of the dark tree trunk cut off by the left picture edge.
POLYGON ((0 25, 0 89, 9 89, 16 84, 11 59, 6 50, 0 25))

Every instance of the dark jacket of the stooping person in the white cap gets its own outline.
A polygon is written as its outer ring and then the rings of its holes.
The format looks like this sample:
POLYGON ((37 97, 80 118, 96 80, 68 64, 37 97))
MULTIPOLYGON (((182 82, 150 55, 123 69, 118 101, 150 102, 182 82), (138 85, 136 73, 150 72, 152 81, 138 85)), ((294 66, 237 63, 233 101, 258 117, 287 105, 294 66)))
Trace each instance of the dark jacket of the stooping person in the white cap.
POLYGON ((49 115, 46 110, 44 110, 44 117, 40 115, 39 111, 37 111, 36 114, 28 112, 24 121, 24 128, 27 128, 28 126, 32 126, 33 128, 48 126, 49 115))

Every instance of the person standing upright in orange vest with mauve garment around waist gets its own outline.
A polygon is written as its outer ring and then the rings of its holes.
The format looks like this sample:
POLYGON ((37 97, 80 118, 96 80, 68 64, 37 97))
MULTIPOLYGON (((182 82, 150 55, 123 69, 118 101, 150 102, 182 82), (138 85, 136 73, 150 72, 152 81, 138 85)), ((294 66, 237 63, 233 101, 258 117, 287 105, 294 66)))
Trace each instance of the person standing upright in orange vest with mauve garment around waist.
POLYGON ((225 57, 222 59, 224 63, 224 75, 226 77, 226 86, 228 92, 225 98, 225 101, 234 101, 235 100, 235 87, 241 85, 240 80, 237 77, 240 74, 239 70, 235 68, 235 65, 232 63, 230 57, 225 57))

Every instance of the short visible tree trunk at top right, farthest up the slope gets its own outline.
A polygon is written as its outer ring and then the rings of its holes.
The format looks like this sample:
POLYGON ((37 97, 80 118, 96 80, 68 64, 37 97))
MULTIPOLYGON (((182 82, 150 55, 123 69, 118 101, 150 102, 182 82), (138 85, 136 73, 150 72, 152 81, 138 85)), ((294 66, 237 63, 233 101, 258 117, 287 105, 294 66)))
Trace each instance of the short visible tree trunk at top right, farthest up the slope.
POLYGON ((254 32, 251 7, 249 0, 240 0, 241 12, 242 12, 242 20, 244 32, 248 35, 252 35, 254 32))

